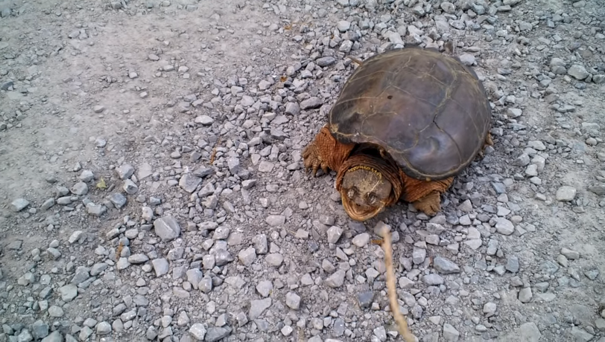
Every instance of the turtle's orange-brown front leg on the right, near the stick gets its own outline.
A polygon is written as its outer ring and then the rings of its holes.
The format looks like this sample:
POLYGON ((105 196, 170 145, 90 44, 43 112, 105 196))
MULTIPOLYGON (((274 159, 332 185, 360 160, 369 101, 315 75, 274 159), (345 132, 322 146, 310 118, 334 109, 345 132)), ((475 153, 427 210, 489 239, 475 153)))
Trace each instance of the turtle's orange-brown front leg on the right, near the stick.
POLYGON ((405 202, 412 203, 414 208, 432 216, 441 210, 441 194, 450 188, 454 177, 443 180, 414 179, 401 172, 404 180, 405 202))

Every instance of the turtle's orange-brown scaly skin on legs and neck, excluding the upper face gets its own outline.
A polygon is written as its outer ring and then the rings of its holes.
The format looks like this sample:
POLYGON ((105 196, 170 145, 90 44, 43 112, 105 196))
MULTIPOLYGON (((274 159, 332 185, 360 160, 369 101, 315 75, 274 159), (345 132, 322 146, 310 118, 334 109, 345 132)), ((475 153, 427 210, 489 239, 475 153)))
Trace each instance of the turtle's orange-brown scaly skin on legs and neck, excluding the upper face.
POLYGON ((376 157, 356 154, 355 164, 348 165, 347 161, 351 156, 351 151, 355 148, 355 144, 343 144, 338 142, 327 126, 321 128, 305 150, 302 152, 304 166, 307 171, 310 169, 313 176, 321 168, 324 173, 332 169, 338 173, 336 181, 336 189, 341 193, 341 199, 345 211, 353 219, 365 221, 371 219, 376 214, 382 211, 383 208, 393 205, 398 200, 403 199, 405 202, 412 203, 414 208, 424 212, 427 215, 434 215, 440 211, 440 195, 445 192, 453 182, 453 177, 445 180, 436 180, 427 182, 408 177, 401 169, 393 167, 384 167, 384 160, 376 160, 376 157), (364 213, 355 212, 353 203, 350 203, 347 195, 341 189, 342 177, 355 166, 368 166, 377 169, 386 179, 393 185, 393 196, 388 199, 378 201, 373 210, 365 210, 364 213), (397 172, 398 171, 398 172, 397 172))

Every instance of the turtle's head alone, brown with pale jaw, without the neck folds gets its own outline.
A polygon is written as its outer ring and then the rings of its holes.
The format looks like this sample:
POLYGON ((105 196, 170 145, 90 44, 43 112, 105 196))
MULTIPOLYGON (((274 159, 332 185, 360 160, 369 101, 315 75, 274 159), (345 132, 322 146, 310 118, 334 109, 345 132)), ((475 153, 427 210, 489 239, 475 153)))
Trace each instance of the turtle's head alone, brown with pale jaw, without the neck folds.
POLYGON ((345 172, 340 193, 349 217, 356 221, 369 220, 387 206, 393 185, 381 171, 357 165, 345 172))

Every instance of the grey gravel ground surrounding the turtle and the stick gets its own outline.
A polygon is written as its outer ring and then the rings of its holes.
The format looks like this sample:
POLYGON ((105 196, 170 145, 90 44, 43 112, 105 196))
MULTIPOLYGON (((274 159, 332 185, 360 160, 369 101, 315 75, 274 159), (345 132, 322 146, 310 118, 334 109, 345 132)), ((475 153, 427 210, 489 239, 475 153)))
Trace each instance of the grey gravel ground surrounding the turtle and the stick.
POLYGON ((605 342, 597 0, 0 2, 0 342, 605 342), (473 65, 443 211, 348 219, 301 151, 365 59, 473 65))

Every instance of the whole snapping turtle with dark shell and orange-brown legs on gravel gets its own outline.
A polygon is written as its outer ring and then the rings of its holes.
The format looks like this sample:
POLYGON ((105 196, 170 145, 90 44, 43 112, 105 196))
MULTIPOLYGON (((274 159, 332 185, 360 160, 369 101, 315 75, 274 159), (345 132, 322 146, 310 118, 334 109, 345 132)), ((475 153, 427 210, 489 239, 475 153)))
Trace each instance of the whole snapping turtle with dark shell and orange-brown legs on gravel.
POLYGON ((353 220, 399 200, 433 216, 454 177, 493 145, 485 87, 436 48, 395 48, 359 63, 302 151, 304 168, 336 172, 353 220))

